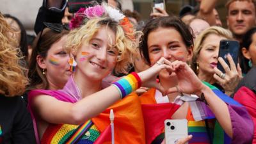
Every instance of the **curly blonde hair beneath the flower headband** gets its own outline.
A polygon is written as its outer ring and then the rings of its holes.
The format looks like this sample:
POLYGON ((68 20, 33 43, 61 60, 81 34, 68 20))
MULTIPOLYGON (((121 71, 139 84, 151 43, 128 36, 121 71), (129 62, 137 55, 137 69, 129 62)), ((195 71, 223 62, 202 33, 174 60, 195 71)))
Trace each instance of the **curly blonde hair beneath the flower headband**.
POLYGON ((136 54, 137 44, 135 38, 131 38, 131 36, 136 36, 136 31, 125 33, 118 22, 108 17, 90 19, 80 28, 72 30, 67 38, 67 52, 70 52, 71 50, 77 51, 83 44, 89 44, 93 35, 95 35, 102 26, 106 26, 113 30, 116 36, 115 46, 118 49, 119 54, 115 72, 127 74, 130 64, 133 63, 132 56, 136 54))

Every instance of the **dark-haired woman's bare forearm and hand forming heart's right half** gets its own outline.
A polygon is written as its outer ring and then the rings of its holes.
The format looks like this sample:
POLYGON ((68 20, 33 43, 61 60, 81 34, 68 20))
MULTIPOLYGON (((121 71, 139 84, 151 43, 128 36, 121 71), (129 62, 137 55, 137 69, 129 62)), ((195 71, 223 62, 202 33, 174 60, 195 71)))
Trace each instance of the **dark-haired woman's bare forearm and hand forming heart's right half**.
POLYGON ((179 90, 182 93, 195 93, 199 97, 204 93, 204 97, 206 102, 209 104, 209 108, 216 116, 218 122, 220 122, 224 131, 228 136, 230 136, 230 138, 232 138, 232 124, 227 104, 212 92, 211 88, 202 83, 186 63, 182 61, 174 61, 172 63, 172 68, 177 74, 179 83, 177 85, 178 88, 170 88, 168 93, 177 92, 177 90, 179 90))

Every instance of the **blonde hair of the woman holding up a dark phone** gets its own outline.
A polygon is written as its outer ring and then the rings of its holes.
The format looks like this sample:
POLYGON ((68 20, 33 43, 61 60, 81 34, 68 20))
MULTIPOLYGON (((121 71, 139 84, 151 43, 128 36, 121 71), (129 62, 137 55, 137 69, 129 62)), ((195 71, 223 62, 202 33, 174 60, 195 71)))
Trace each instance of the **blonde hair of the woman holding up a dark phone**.
POLYGON ((202 31, 202 33, 200 33, 200 35, 198 35, 198 37, 195 40, 195 47, 193 49, 193 58, 191 63, 191 68, 194 70, 196 74, 196 60, 198 59, 198 55, 202 49, 202 44, 204 43, 205 38, 207 38, 207 36, 211 34, 223 36, 228 40, 234 39, 231 31, 229 31, 228 29, 221 28, 220 26, 211 26, 210 28, 207 28, 204 31, 202 31))

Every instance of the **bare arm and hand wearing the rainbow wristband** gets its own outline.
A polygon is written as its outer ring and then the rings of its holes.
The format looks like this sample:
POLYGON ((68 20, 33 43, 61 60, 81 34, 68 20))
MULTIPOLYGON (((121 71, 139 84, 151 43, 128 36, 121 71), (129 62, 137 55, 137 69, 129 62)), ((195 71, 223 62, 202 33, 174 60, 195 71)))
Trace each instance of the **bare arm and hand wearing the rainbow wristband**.
MULTIPOLYGON (((161 59, 161 61, 162 60, 163 59, 161 59)), ((170 66, 156 64, 151 68, 138 73, 143 86, 154 87, 161 92, 164 92, 163 88, 156 82, 157 74, 163 68, 170 68, 170 66)), ((119 81, 122 81, 122 79, 119 81)), ((127 86, 127 84, 125 86, 127 86)), ((42 118, 49 123, 81 124, 86 122, 89 118, 99 115, 99 113, 119 99, 120 90, 112 84, 99 92, 84 96, 82 100, 74 104, 57 100, 50 95, 38 95, 33 97, 31 106, 33 112, 36 113, 39 118, 42 118)))

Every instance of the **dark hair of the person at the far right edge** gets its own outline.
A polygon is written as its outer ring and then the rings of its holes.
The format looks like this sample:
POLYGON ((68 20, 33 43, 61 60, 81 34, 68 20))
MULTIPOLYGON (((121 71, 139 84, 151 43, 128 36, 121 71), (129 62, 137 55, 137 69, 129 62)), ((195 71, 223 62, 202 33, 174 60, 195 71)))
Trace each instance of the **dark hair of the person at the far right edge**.
POLYGON ((241 43, 240 51, 239 51, 239 59, 240 59, 240 67, 242 68, 243 74, 246 74, 251 67, 249 66, 249 61, 247 58, 244 57, 242 53, 242 48, 244 47, 249 50, 250 45, 252 44, 252 36, 253 34, 256 33, 256 27, 253 27, 249 29, 243 36, 243 41, 241 43))

